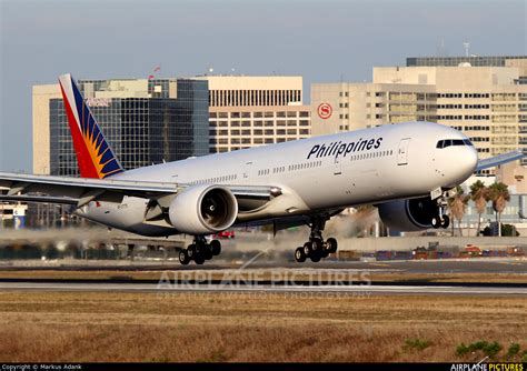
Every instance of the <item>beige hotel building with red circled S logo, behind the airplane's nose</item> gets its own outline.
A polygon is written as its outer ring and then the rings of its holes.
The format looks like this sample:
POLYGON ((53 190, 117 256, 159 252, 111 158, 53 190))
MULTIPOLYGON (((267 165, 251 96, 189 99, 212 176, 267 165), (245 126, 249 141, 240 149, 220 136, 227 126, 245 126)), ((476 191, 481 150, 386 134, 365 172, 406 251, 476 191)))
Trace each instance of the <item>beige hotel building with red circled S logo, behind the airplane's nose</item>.
POLYGON ((374 68, 369 83, 315 83, 312 134, 432 121, 465 132, 480 158, 527 150, 527 84, 517 83, 526 62, 374 68))

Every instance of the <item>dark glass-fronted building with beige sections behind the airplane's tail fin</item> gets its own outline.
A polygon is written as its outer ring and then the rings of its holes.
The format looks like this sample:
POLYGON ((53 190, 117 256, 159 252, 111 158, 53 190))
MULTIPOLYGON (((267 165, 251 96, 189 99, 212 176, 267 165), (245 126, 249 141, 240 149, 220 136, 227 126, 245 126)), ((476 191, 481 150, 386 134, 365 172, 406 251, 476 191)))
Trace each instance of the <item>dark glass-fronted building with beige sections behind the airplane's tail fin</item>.
MULTIPOLYGON (((196 79, 80 80, 125 169, 208 153, 208 86, 196 79)), ((33 87, 33 172, 77 176, 58 84, 33 87)))

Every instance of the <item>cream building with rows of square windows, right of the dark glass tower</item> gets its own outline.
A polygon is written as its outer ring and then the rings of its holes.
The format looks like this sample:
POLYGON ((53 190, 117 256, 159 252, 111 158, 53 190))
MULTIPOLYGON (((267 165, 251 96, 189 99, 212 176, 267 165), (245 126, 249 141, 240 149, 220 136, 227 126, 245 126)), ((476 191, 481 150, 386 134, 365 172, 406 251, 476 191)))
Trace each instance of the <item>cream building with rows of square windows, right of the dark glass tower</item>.
POLYGON ((206 76, 209 150, 227 152, 310 137, 301 77, 206 76))

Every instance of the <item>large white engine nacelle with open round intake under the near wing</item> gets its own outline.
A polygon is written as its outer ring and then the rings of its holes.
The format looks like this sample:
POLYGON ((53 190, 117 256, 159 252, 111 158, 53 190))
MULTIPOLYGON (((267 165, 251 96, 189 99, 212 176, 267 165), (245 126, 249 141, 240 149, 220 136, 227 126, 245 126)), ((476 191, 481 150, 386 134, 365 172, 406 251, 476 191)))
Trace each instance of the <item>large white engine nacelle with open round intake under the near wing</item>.
POLYGON ((170 223, 181 233, 217 233, 235 223, 238 202, 228 188, 193 186, 176 195, 168 214, 170 223))

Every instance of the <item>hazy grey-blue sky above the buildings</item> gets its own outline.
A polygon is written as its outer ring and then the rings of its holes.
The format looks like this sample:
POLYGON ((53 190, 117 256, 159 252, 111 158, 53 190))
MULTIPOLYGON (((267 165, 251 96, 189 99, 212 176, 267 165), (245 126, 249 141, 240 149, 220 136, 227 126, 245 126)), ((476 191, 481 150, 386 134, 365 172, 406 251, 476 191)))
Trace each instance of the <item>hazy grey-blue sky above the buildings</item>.
POLYGON ((527 54, 525 0, 0 0, 0 171, 32 172, 31 87, 206 73, 371 81, 407 57, 527 54), (441 47, 444 46, 444 47, 441 47))

